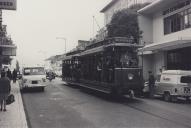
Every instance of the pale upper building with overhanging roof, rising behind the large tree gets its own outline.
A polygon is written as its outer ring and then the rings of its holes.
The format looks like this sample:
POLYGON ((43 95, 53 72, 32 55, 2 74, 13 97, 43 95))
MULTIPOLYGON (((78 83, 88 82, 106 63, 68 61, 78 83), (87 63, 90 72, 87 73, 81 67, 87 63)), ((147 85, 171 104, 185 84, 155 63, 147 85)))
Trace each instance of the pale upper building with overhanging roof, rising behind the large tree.
POLYGON ((105 25, 109 24, 113 14, 119 10, 129 8, 135 4, 151 3, 152 1, 154 0, 112 0, 101 10, 104 13, 104 23, 105 25))

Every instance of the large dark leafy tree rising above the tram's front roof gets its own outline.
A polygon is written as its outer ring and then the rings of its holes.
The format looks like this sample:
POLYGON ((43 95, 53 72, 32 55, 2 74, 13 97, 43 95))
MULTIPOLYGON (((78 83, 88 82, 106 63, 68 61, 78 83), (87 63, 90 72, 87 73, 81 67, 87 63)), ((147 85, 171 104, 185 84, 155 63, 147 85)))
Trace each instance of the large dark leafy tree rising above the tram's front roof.
POLYGON ((139 43, 142 31, 139 30, 137 10, 146 5, 136 4, 116 12, 107 25, 108 37, 128 37, 139 43))

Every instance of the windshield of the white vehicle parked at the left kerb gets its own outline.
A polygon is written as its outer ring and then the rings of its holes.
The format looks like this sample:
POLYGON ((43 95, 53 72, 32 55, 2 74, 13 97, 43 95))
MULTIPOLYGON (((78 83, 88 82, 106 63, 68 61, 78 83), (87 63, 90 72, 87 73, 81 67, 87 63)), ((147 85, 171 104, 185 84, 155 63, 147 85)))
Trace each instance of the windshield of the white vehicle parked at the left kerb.
POLYGON ((45 71, 42 67, 37 68, 25 68, 24 75, 44 75, 45 71))

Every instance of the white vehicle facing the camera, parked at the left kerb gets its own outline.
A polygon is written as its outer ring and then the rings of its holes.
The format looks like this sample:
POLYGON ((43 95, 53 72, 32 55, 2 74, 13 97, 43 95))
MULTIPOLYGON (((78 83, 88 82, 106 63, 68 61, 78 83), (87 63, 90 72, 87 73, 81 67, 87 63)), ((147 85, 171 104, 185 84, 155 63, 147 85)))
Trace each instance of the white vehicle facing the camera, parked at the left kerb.
POLYGON ((40 88, 44 91, 46 86, 46 73, 44 67, 25 67, 23 68, 20 89, 40 88))

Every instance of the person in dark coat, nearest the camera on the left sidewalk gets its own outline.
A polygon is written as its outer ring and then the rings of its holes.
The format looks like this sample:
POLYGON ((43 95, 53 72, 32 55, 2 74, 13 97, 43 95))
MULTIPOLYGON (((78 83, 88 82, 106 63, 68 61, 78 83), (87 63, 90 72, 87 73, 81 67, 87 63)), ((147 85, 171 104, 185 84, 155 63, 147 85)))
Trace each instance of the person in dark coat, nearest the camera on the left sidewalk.
POLYGON ((0 111, 6 111, 6 100, 11 91, 10 80, 6 77, 5 72, 1 72, 0 78, 0 103, 1 108, 0 111))

